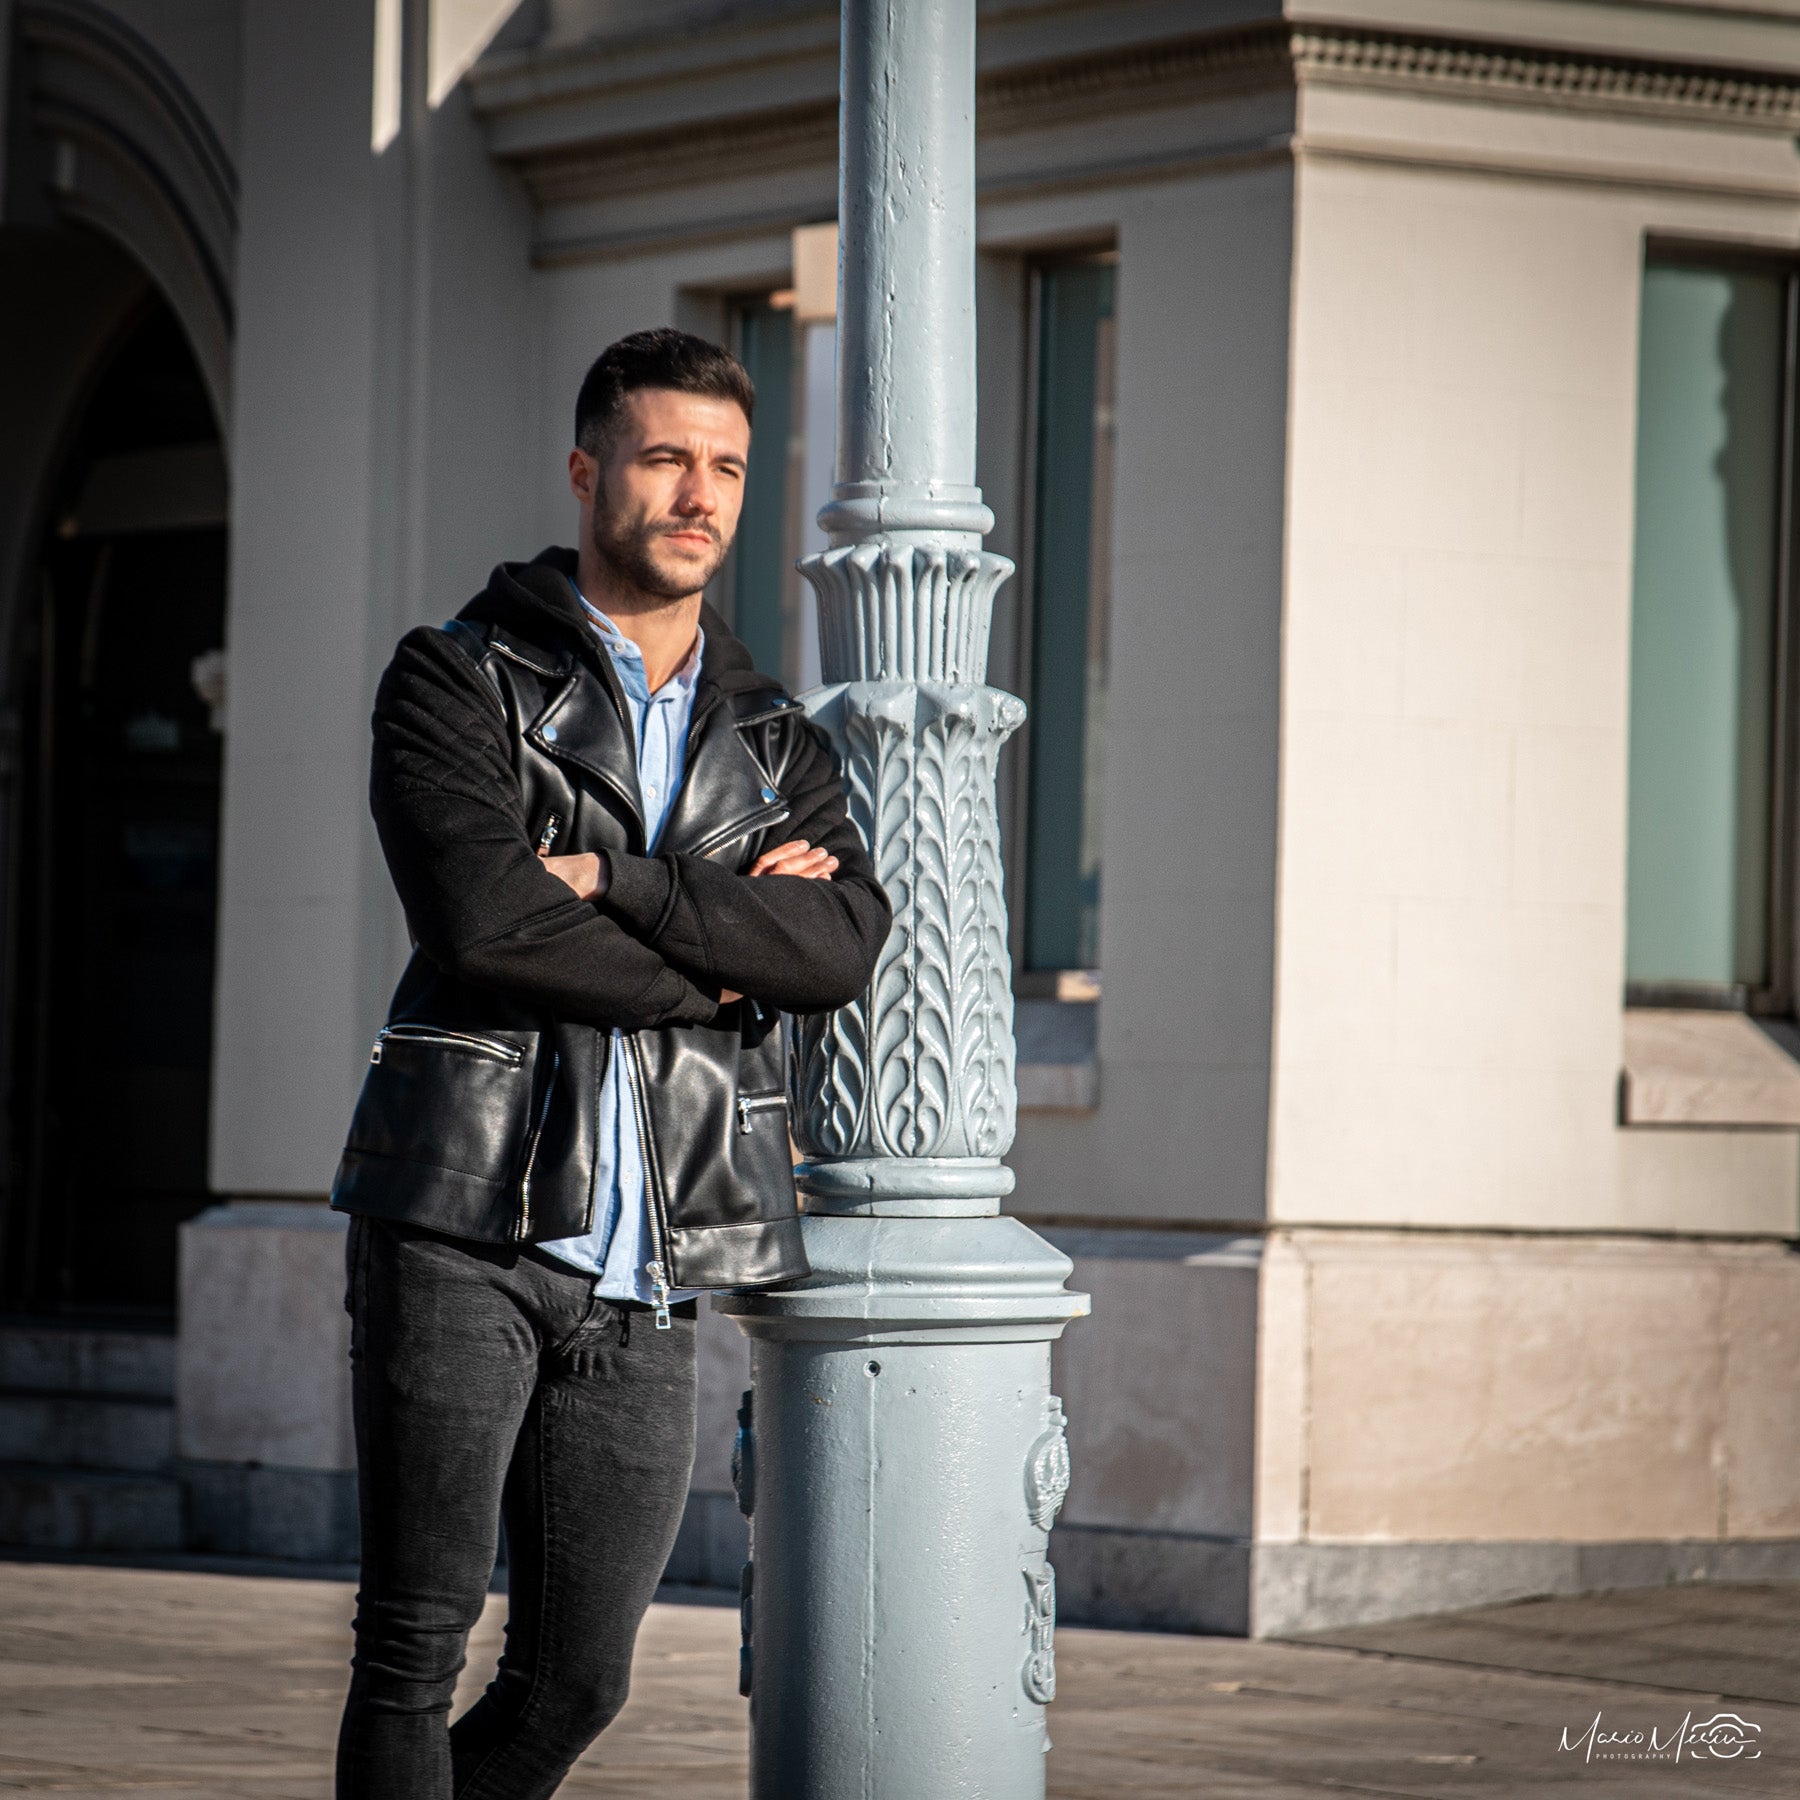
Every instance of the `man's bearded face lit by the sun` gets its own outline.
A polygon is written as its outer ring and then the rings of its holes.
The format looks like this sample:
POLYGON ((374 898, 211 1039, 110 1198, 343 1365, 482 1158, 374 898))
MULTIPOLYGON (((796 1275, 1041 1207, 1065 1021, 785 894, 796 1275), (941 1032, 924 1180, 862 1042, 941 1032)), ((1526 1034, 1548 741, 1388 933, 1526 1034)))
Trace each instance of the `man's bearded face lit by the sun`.
POLYGON ((639 387, 569 486, 601 562, 657 599, 698 594, 738 531, 751 421, 734 400, 639 387))

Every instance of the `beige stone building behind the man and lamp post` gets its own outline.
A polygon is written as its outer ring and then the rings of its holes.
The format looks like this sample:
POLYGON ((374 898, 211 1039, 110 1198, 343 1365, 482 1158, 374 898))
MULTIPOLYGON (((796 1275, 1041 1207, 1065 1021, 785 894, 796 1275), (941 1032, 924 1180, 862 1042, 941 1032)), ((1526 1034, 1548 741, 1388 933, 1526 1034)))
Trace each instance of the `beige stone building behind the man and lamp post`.
MULTIPOLYGON (((835 36, 0 0, 0 1537, 351 1552, 373 684, 569 536, 581 369, 670 320, 758 378, 718 601, 812 679, 835 36)), ((983 0, 979 58, 1066 1616, 1800 1575, 1800 18, 983 0)), ((734 1582, 706 1343, 675 1573, 734 1582)))

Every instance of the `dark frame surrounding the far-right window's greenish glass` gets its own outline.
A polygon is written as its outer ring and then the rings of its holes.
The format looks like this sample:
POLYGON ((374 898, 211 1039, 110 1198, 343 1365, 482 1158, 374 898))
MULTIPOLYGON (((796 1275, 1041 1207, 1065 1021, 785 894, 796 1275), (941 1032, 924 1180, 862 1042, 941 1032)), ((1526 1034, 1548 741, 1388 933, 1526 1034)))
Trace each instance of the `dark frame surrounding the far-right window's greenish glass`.
MULTIPOLYGON (((1800 821, 1796 821, 1795 805, 1800 797, 1800 630, 1796 630, 1800 592, 1796 592, 1795 554, 1795 531, 1796 520, 1800 520, 1800 457, 1796 457, 1796 448, 1800 448, 1796 445, 1796 430, 1800 430, 1800 423, 1796 423, 1796 414, 1800 414, 1800 257, 1791 250, 1757 248, 1719 239, 1649 236, 1640 265, 1640 306, 1643 275, 1652 266, 1778 275, 1782 281, 1782 418, 1780 463, 1775 477, 1775 628, 1771 634, 1775 668, 1769 720, 1769 871, 1764 896, 1769 968, 1768 981, 1759 985, 1742 981, 1627 981, 1624 999, 1625 1006, 1793 1017, 1796 1010, 1795 977, 1800 970, 1800 907, 1796 907, 1796 896, 1800 896, 1800 821)), ((1642 392, 1636 396, 1636 403, 1642 405, 1642 392)), ((1633 479, 1636 481, 1636 443, 1633 446, 1633 479)), ((1634 562, 1631 574, 1634 598, 1634 562)))

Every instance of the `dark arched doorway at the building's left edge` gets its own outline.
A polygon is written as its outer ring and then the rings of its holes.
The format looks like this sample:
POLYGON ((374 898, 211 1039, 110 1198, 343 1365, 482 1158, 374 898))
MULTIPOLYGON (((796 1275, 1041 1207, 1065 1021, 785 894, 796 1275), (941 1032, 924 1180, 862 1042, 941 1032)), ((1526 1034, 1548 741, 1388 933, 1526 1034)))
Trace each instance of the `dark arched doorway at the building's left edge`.
POLYGON ((176 1226, 207 1201, 227 493, 160 299, 65 445, 11 661, 0 1303, 164 1312, 176 1226))

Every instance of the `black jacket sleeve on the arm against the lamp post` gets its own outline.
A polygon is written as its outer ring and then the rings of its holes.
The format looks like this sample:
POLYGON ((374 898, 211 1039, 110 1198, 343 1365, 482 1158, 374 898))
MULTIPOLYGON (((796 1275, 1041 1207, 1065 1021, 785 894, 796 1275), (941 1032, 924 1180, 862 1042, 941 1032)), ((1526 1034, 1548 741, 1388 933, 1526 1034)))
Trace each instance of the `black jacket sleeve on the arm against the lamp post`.
POLYGON ((844 805, 844 779, 817 725, 796 722, 783 778, 779 842, 805 839, 837 857, 830 880, 733 875, 706 857, 610 855, 599 905, 706 986, 734 988, 781 1012, 848 1006, 869 985, 893 907, 844 805))

